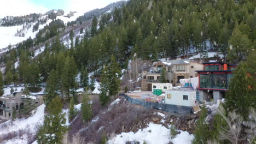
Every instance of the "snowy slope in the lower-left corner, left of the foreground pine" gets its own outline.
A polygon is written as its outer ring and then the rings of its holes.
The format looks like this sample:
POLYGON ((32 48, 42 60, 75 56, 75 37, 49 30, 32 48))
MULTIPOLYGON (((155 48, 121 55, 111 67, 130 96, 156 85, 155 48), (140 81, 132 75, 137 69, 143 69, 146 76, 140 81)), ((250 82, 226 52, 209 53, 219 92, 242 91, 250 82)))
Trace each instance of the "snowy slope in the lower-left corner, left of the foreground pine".
MULTIPOLYGON (((0 124, 0 135, 7 133, 14 133, 15 131, 19 133, 19 130, 22 131, 30 131, 32 135, 36 134, 36 128, 39 124, 43 123, 44 119, 44 107, 45 105, 38 106, 35 110, 33 110, 33 115, 28 118, 16 119, 16 121, 7 121, 0 124)), ((27 143, 28 138, 31 138, 31 135, 27 135, 26 133, 16 136, 11 140, 4 141, 5 144, 11 143, 19 143, 25 144, 27 143)))

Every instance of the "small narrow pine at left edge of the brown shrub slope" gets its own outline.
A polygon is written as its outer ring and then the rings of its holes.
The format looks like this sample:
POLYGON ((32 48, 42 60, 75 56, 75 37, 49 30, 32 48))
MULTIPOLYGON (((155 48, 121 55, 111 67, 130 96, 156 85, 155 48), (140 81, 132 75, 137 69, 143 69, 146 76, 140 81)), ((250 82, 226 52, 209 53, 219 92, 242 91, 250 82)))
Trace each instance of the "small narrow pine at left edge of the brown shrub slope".
POLYGON ((92 118, 92 111, 91 111, 91 101, 89 98, 89 94, 84 94, 83 103, 81 106, 83 122, 86 122, 92 118))

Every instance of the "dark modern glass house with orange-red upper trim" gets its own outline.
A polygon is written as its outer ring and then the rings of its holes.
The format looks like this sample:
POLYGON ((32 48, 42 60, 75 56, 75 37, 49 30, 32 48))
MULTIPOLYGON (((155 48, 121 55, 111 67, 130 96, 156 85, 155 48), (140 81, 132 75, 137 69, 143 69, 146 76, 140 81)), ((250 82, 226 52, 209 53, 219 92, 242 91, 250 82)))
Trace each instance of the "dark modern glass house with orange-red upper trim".
POLYGON ((196 100, 211 101, 225 98, 230 79, 233 77, 232 71, 236 65, 221 62, 202 63, 203 70, 196 70, 199 83, 196 92, 196 100))

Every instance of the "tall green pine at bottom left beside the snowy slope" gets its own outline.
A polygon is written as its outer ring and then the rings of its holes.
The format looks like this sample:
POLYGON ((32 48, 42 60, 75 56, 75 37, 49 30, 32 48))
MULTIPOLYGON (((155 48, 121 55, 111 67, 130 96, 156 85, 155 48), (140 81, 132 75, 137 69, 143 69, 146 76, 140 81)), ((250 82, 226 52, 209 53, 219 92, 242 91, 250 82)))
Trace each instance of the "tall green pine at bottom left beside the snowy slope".
POLYGON ((56 96, 49 104, 48 113, 44 116, 44 123, 38 131, 38 143, 61 143, 63 135, 66 133, 65 113, 62 113, 62 101, 56 96))

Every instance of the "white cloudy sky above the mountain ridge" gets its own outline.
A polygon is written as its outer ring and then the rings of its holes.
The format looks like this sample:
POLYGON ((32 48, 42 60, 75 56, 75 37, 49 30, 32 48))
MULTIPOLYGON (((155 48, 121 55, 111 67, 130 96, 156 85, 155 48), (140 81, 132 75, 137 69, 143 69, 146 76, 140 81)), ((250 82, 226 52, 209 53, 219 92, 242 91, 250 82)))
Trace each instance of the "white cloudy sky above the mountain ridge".
POLYGON ((103 8, 120 0, 0 0, 0 18, 12 15, 20 16, 31 13, 45 13, 51 9, 69 11, 86 11, 103 8))

